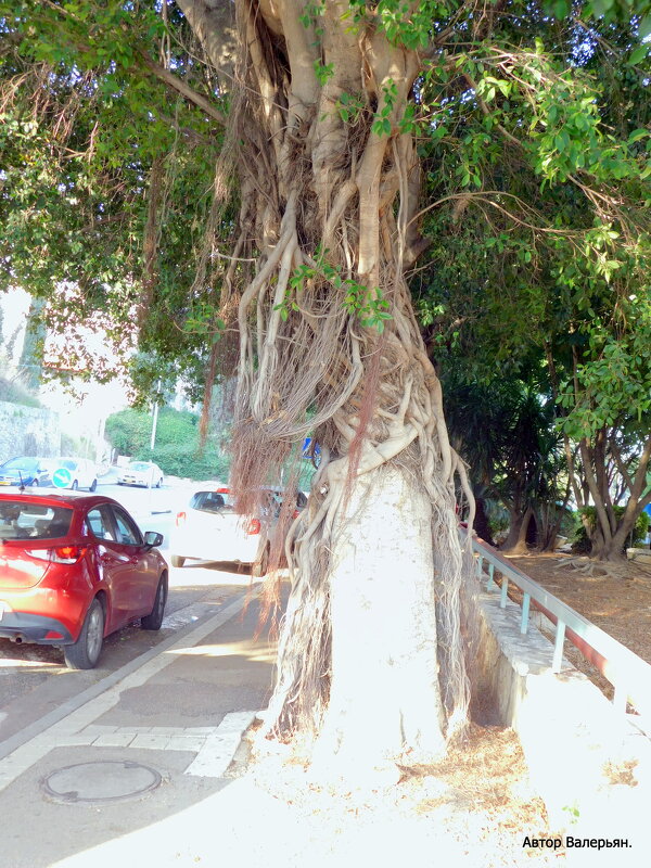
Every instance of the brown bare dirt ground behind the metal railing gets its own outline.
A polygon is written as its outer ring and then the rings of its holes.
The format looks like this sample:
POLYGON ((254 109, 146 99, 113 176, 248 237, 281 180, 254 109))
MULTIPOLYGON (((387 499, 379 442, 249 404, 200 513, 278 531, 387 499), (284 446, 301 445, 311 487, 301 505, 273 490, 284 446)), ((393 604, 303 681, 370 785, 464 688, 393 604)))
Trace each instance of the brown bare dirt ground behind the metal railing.
MULTIPOLYGON (((626 562, 607 570, 587 558, 528 554, 510 562, 584 617, 651 663, 651 570, 626 562), (591 569, 586 572, 585 567, 591 569)), ((513 586, 511 586, 513 587, 513 586)), ((610 682, 591 663, 565 642, 565 656, 609 698, 610 682)))

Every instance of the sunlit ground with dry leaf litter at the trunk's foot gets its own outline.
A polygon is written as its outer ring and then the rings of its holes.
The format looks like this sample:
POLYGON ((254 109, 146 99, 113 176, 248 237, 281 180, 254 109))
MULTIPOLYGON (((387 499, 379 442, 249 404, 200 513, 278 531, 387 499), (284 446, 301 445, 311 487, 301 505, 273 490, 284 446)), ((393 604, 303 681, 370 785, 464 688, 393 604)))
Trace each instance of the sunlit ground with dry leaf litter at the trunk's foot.
POLYGON ((260 745, 252 732, 247 738, 253 758, 231 774, 283 806, 294 835, 288 866, 388 866, 405 858, 423 868, 564 863, 563 850, 523 846, 526 837, 554 835, 511 729, 473 724, 442 762, 401 768, 397 783, 370 789, 319 784, 291 748, 260 745))

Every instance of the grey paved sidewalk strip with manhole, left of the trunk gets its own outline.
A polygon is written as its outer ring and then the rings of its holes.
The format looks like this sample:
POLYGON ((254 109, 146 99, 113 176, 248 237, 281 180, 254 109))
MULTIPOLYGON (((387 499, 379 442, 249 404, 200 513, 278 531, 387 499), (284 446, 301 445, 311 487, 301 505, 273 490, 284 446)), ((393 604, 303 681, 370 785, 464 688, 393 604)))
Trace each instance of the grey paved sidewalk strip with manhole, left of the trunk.
POLYGON ((258 609, 243 589, 0 742, 3 868, 210 864, 193 827, 214 830, 206 800, 234 784, 225 773, 272 685, 275 648, 251 638, 258 609))

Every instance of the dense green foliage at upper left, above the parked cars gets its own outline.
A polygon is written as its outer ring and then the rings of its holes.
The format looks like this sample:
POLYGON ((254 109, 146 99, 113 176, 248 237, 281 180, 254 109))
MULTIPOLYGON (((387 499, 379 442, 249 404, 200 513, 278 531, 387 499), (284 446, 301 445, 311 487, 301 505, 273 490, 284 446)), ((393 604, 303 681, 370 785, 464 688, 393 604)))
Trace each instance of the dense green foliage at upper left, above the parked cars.
MULTIPOLYGON (((101 324, 114 356, 87 354, 89 375, 128 367, 138 340, 143 393, 171 366, 197 398, 209 345, 195 323, 218 269, 195 278, 219 136, 152 72, 155 4, 133 24, 113 1, 0 4, 0 291, 47 302, 50 330, 101 324)), ((175 75, 204 90, 201 65, 173 44, 175 75)))

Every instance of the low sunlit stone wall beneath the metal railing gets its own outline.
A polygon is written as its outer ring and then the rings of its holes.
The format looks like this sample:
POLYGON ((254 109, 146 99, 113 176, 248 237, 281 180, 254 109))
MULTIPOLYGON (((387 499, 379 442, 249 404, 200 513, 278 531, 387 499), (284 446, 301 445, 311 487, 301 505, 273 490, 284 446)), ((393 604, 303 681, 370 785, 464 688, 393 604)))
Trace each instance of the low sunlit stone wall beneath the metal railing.
POLYGON ((626 838, 644 846, 651 804, 651 740, 618 714, 585 675, 563 659, 551 671, 553 646, 521 610, 480 592, 473 691, 485 695, 500 724, 519 735, 550 828, 572 835, 626 838))

